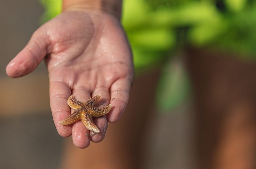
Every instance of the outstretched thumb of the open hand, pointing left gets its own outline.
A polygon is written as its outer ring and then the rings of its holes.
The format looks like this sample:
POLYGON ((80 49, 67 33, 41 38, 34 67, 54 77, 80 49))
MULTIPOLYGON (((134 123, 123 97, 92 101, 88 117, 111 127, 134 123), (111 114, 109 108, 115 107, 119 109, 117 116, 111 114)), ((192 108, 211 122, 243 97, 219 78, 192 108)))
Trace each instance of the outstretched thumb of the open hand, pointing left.
POLYGON ((51 41, 44 27, 34 32, 28 44, 6 66, 10 77, 21 77, 36 69, 44 56, 50 53, 51 41))

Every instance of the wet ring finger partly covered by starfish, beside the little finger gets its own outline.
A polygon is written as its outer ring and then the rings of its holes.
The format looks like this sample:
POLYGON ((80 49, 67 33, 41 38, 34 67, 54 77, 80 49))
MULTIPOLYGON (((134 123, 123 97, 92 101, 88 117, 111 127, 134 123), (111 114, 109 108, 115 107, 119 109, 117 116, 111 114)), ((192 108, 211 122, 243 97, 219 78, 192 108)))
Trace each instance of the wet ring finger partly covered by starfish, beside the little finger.
MULTIPOLYGON (((110 101, 109 90, 105 87, 97 87, 96 90, 92 93, 92 96, 96 96, 99 94, 100 94, 100 99, 96 103, 96 106, 97 107, 108 106, 110 101)), ((91 141, 98 143, 98 142, 101 142, 105 137, 105 134, 108 128, 107 116, 104 115, 102 117, 95 117, 93 118, 93 121, 94 121, 94 124, 98 127, 100 132, 92 135, 92 131, 90 131, 91 141)))

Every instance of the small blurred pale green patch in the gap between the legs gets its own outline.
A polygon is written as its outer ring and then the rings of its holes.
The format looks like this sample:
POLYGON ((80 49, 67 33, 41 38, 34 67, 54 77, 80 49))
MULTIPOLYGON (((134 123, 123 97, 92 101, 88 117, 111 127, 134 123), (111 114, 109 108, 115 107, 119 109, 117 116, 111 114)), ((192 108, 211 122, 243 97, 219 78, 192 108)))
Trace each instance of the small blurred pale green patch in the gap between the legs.
POLYGON ((174 58, 165 64, 158 82, 156 102, 162 113, 180 105, 189 93, 189 78, 182 60, 174 58))

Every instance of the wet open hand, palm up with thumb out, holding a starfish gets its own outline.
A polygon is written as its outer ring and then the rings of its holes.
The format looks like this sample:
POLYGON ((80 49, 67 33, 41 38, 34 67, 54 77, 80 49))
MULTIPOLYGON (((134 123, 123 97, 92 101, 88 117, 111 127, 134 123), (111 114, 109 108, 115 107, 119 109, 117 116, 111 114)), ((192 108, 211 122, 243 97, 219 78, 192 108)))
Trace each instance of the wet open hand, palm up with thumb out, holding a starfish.
POLYGON ((79 148, 88 147, 90 140, 103 140, 108 121, 116 122, 126 108, 133 79, 132 54, 119 20, 99 11, 63 12, 34 32, 6 73, 24 76, 42 59, 49 71, 50 106, 58 133, 72 135, 79 148), (107 116, 94 118, 100 133, 91 136, 81 121, 59 125, 71 113, 71 94, 83 102, 101 94, 100 105, 112 104, 107 116))

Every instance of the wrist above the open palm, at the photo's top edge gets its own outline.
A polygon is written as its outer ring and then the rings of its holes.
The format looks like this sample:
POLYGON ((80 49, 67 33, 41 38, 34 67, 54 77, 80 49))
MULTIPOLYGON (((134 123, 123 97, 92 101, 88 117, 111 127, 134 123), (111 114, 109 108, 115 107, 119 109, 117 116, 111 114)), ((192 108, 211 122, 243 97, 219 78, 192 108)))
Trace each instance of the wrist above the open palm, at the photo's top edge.
POLYGON ((121 18, 122 0, 62 0, 62 11, 106 12, 121 18))

